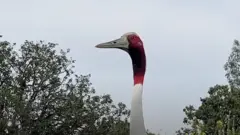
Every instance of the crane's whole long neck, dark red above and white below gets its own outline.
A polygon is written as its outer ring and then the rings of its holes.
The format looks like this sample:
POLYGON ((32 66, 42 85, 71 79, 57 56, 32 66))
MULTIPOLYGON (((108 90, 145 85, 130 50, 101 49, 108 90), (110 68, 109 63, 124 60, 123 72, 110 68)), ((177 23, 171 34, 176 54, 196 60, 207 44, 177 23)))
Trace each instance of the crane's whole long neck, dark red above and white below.
POLYGON ((132 59, 134 88, 131 101, 130 135, 146 135, 143 119, 142 93, 146 71, 146 55, 143 46, 130 47, 128 53, 132 59))

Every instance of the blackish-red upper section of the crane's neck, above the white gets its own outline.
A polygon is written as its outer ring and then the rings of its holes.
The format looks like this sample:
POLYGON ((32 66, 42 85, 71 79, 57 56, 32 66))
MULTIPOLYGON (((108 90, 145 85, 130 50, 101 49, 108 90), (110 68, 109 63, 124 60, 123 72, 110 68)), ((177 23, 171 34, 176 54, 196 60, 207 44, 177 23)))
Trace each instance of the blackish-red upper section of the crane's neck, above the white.
POLYGON ((132 59, 134 85, 143 84, 146 71, 146 56, 143 48, 129 49, 132 59))

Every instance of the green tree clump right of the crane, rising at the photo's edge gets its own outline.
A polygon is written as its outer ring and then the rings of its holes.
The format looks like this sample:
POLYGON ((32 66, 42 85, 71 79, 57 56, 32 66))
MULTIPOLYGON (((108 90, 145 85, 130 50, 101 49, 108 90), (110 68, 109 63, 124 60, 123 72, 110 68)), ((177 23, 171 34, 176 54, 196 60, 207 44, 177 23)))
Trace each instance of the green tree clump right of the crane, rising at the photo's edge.
POLYGON ((197 109, 186 106, 183 123, 190 128, 178 130, 179 135, 196 133, 197 129, 206 134, 240 133, 240 45, 237 40, 224 69, 229 85, 210 87, 208 96, 200 98, 201 105, 197 109))

